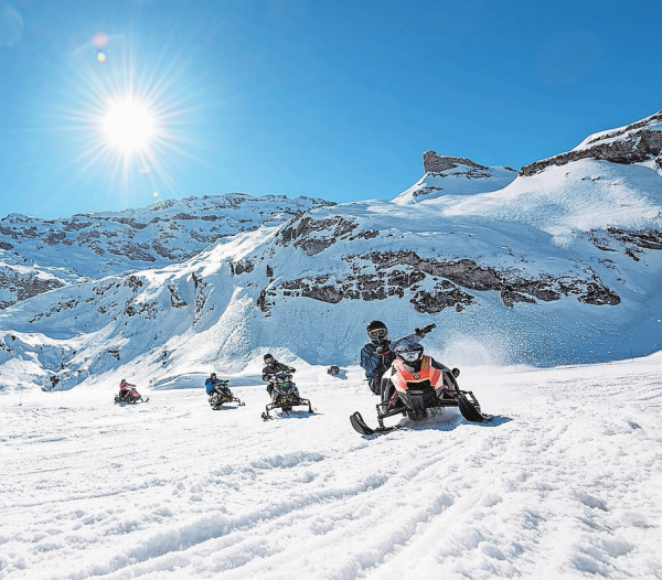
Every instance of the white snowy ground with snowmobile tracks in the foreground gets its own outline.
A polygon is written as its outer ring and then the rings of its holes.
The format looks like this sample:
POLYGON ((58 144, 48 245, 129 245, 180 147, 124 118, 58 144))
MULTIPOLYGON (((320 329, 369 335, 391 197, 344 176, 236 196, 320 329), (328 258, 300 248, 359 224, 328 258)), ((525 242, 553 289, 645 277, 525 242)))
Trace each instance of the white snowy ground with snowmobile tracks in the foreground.
POLYGON ((378 438, 352 379, 271 421, 263 387, 3 397, 0 579, 662 578, 660 364, 460 379, 492 423, 378 438))

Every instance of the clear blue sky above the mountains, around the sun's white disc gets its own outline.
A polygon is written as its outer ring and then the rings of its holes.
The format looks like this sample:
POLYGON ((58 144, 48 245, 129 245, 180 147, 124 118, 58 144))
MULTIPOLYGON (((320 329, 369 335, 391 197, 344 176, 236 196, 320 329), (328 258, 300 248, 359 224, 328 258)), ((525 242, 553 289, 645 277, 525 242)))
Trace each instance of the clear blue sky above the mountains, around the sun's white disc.
POLYGON ((662 108, 661 17, 659 0, 0 0, 0 214, 392 198, 427 149, 519 168, 662 108), (103 129, 129 97, 158 127, 131 154, 103 129))

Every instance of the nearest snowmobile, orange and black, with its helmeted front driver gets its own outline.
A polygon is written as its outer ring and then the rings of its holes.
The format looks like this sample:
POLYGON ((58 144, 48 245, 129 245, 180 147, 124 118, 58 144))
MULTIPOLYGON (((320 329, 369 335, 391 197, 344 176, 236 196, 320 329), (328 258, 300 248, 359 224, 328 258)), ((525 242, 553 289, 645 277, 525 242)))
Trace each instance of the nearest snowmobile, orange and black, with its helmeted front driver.
POLYGON ((380 427, 372 429, 359 411, 350 417, 355 431, 364 436, 386 433, 397 427, 385 427, 384 419, 403 415, 416 421, 427 417, 428 409, 457 407, 465 419, 471 422, 487 422, 491 415, 483 415, 473 393, 460 390, 457 377, 458 368, 438 369, 431 365, 431 358, 423 355, 423 346, 413 336, 406 336, 392 345, 396 359, 383 380, 382 402, 376 405, 380 427), (414 365, 414 366, 412 366, 414 365), (414 370, 410 370, 414 368, 414 370), (388 389, 388 383, 395 389, 388 389), (393 390, 393 395, 389 394, 393 390))

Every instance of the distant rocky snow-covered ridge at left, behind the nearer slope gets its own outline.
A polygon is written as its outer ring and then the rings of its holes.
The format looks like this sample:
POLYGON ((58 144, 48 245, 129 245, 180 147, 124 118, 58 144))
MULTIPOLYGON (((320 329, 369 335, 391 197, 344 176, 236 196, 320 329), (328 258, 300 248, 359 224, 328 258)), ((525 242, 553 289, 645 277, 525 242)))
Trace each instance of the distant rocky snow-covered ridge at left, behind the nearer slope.
POLYGON ((0 309, 53 288, 181 262, 217 239, 320 205, 335 204, 232 193, 61 219, 11 214, 0 219, 0 309))

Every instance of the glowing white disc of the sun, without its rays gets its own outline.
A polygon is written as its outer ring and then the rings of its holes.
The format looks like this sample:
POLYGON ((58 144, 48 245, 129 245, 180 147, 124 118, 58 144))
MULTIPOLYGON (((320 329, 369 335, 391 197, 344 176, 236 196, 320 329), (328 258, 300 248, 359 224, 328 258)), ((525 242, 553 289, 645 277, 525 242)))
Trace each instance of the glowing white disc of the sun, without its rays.
POLYGON ((102 128, 108 144, 125 155, 145 152, 157 135, 154 114, 147 104, 132 97, 110 103, 102 118, 102 128))

